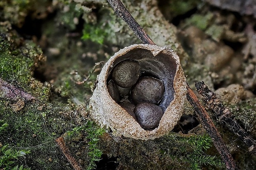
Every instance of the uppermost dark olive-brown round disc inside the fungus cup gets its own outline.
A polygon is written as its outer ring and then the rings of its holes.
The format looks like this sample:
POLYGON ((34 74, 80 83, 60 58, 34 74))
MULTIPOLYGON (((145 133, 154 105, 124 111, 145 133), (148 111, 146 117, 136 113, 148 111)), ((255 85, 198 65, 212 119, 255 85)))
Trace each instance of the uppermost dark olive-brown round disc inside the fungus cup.
POLYGON ((112 72, 114 82, 123 88, 133 86, 140 77, 140 64, 133 60, 118 63, 112 72))

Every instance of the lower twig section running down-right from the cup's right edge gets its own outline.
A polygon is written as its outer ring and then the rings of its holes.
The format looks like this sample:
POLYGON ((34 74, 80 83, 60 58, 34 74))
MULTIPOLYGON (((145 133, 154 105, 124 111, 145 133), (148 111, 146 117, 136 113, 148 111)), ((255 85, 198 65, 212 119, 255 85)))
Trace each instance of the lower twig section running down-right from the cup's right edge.
POLYGON ((199 102, 197 96, 194 94, 190 86, 187 84, 187 100, 190 104, 194 107, 194 110, 199 117, 200 122, 206 129, 207 133, 211 137, 213 144, 215 145, 216 149, 220 153, 221 158, 223 159, 227 170, 238 170, 237 165, 232 158, 232 155, 228 151, 225 143, 223 142, 220 133, 218 133, 217 128, 214 126, 213 121, 209 114, 207 114, 206 110, 204 109, 203 105, 199 102))

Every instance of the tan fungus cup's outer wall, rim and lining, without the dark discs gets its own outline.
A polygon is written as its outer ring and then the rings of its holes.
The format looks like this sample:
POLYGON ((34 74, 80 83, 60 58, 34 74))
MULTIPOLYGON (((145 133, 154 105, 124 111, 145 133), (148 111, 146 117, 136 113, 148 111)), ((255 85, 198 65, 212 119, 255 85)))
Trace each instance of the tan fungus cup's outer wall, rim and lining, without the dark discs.
MULTIPOLYGON (((136 66, 137 67, 137 66, 136 66)), ((126 74, 126 72, 123 72, 126 74)), ((136 77, 137 79, 137 77, 136 77)), ((134 139, 149 140, 169 133, 177 124, 183 113, 186 99, 186 79, 180 65, 180 59, 170 47, 159 47, 149 44, 133 44, 116 52, 104 65, 97 77, 97 85, 90 98, 90 116, 101 126, 111 128, 115 135, 134 139), (164 94, 157 104, 164 112, 156 128, 143 129, 134 116, 121 107, 123 103, 115 101, 108 82, 112 81, 115 66, 125 60, 138 62, 140 77, 154 77, 164 85, 164 94)), ((133 89, 134 86, 131 88, 133 89)), ((120 96, 121 97, 121 96, 120 96)), ((133 103, 132 99, 129 99, 133 103)))

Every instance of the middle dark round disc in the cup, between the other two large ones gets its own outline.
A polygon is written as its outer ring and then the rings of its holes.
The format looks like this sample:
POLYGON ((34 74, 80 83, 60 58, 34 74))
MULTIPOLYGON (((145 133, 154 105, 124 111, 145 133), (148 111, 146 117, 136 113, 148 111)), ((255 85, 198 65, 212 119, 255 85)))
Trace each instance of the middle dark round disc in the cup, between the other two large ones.
POLYGON ((164 95, 164 85, 161 80, 154 77, 142 77, 132 91, 135 103, 149 102, 157 104, 164 95))

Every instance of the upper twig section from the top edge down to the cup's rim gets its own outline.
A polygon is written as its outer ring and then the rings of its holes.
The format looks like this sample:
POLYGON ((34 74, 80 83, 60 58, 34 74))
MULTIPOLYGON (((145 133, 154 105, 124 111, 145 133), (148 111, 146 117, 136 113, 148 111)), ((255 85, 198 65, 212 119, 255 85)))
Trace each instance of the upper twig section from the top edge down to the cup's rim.
POLYGON ((133 18, 130 12, 126 9, 123 3, 120 0, 108 0, 111 7, 114 9, 114 12, 119 16, 123 21, 127 23, 131 30, 137 35, 137 37, 142 41, 143 44, 152 44, 156 45, 147 35, 146 31, 140 26, 139 23, 133 18))

